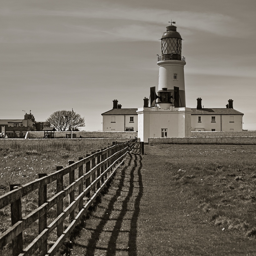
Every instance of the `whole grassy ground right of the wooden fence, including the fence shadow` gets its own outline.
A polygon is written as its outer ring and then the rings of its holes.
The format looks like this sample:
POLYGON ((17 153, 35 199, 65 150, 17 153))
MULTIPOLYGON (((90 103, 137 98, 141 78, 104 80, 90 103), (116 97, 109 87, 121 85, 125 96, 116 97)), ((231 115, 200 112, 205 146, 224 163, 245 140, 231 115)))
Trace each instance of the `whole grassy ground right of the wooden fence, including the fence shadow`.
POLYGON ((72 255, 256 255, 255 146, 147 145, 71 239, 72 255))

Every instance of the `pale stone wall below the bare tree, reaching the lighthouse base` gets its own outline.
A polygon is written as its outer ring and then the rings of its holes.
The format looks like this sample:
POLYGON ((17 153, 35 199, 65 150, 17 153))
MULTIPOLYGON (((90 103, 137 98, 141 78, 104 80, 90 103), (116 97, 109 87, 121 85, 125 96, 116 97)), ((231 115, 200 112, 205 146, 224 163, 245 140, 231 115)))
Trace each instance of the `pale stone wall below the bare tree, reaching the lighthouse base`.
MULTIPOLYGON (((55 137, 66 138, 68 133, 70 134, 70 131, 56 131, 55 137)), ((76 138, 80 135, 82 138, 134 138, 138 135, 136 131, 74 131, 73 134, 76 134, 76 138)), ((43 136, 43 131, 29 131, 27 139, 42 139, 43 136)))

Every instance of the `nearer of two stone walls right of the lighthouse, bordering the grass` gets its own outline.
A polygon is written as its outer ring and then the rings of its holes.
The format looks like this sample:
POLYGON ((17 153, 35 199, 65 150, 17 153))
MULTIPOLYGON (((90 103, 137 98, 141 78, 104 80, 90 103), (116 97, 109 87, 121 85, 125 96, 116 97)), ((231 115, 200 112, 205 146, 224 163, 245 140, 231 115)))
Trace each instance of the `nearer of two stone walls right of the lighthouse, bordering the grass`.
POLYGON ((256 145, 256 136, 149 138, 149 144, 233 144, 256 145))

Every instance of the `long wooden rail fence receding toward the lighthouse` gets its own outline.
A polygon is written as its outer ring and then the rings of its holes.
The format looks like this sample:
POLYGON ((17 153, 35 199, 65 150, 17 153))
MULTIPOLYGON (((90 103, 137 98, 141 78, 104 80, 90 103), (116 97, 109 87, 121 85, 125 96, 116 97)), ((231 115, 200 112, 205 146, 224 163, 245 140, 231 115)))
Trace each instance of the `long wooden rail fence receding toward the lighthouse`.
POLYGON ((112 146, 92 152, 85 158, 80 157, 77 162, 69 161, 67 167, 57 166, 56 172, 50 175, 41 173, 37 180, 25 185, 10 185, 10 191, 0 196, 0 209, 10 205, 12 227, 0 235, 0 248, 12 242, 13 256, 33 255, 37 249, 41 255, 54 255, 111 179, 126 154, 136 145, 132 143, 135 141, 137 138, 130 140, 130 145, 129 142, 113 142, 112 146), (69 175, 69 185, 64 188, 65 175, 69 175), (75 176, 78 177, 76 180, 75 176), (47 186, 53 182, 56 182, 56 194, 47 200, 47 186), (22 197, 37 189, 38 208, 22 217, 22 197), (69 197, 69 204, 64 209, 63 199, 66 196, 69 197), (52 207, 56 207, 56 218, 47 225, 47 210, 52 207), (64 230, 63 223, 67 217, 69 222, 64 230), (24 229, 37 221, 37 237, 23 248, 24 229), (50 247, 47 238, 54 229, 57 229, 58 239, 50 247))

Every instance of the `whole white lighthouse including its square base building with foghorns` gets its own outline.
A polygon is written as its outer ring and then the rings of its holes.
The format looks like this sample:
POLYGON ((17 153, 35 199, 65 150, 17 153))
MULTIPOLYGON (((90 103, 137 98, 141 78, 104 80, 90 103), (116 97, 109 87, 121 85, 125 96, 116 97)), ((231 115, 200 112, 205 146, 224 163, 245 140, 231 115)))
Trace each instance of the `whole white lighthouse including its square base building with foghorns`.
POLYGON ((138 137, 147 143, 149 138, 190 137, 191 109, 186 108, 184 66, 181 56, 180 33, 176 27, 166 27, 161 38, 162 55, 158 57, 159 83, 155 93, 150 88, 150 106, 138 108, 138 137))

